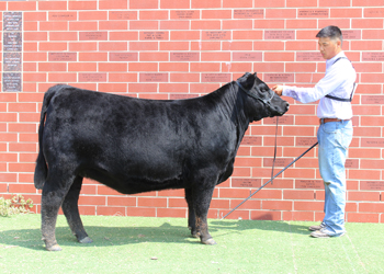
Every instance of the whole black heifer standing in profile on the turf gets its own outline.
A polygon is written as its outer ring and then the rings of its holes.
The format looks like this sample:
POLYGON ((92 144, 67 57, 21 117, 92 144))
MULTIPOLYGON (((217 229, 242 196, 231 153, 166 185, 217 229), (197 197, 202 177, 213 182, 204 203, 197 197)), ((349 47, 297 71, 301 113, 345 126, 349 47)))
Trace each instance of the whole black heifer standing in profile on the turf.
POLYGON ((125 194, 184 189, 192 235, 215 244, 206 222, 215 185, 231 175, 249 123, 283 115, 287 107, 256 73, 207 95, 174 101, 50 88, 34 179, 43 189, 46 249, 61 250, 55 238, 60 206, 78 241, 92 241, 78 210, 83 178, 125 194))

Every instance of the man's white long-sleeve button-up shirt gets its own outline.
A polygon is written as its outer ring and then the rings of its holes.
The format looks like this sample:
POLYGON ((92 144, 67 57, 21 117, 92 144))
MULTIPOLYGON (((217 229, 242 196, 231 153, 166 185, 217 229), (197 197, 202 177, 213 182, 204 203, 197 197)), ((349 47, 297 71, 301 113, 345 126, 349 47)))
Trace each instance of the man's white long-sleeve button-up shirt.
POLYGON ((326 75, 314 88, 283 87, 283 95, 293 98, 302 103, 310 103, 320 100, 317 106, 319 118, 352 118, 352 107, 350 102, 340 102, 325 95, 349 99, 353 90, 357 73, 352 64, 339 57, 346 57, 341 52, 334 58, 326 61, 326 75))

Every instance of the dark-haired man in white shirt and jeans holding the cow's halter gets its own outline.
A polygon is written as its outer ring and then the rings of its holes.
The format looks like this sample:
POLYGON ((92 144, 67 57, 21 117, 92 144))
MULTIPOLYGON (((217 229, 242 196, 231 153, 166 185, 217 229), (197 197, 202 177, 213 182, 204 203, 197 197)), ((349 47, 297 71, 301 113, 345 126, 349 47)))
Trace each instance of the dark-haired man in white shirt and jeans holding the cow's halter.
POLYGON ((351 99, 355 71, 341 49, 342 34, 337 26, 324 27, 317 35, 319 50, 326 59, 325 77, 314 88, 275 85, 278 95, 291 96, 302 103, 319 101, 317 116, 318 164, 325 185, 324 219, 312 226, 312 237, 329 238, 345 235, 346 157, 352 140, 351 99))

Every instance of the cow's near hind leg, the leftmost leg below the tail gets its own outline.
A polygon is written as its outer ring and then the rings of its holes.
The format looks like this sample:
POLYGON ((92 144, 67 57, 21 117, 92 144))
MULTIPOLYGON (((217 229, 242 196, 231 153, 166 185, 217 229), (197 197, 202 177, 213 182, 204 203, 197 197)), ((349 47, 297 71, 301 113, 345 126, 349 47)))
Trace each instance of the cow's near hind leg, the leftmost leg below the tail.
POLYGON ((50 170, 42 194, 42 235, 48 251, 60 251, 55 237, 58 209, 74 179, 64 180, 63 174, 50 170))

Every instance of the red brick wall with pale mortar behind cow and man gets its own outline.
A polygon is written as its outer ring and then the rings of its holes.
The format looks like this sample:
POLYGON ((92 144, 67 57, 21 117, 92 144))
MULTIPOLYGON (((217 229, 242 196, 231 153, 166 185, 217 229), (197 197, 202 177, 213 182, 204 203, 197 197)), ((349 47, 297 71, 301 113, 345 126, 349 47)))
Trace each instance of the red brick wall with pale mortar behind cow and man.
MULTIPOLYGON (((21 193, 39 212, 33 185, 36 132, 50 85, 182 99, 214 91, 246 71, 257 71, 270 85, 314 85, 325 71, 315 35, 336 24, 345 31, 343 49, 359 83, 346 218, 384 222, 383 5, 383 0, 1 1, 2 13, 22 12, 23 66, 22 91, 0 93, 0 196, 21 193)), ((316 141, 316 104, 289 101, 291 109, 279 121, 275 172, 316 141)), ((250 126, 231 179, 214 192, 211 218, 269 180, 274 132, 271 118, 250 126)), ((229 218, 320 220, 324 190, 316 156, 314 149, 229 218)), ((86 180, 80 210, 185 217, 187 204, 183 191, 121 195, 86 180)))

